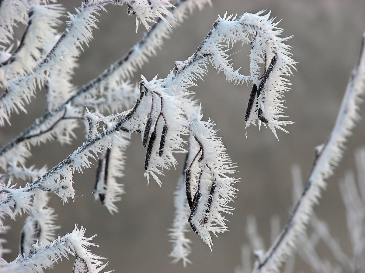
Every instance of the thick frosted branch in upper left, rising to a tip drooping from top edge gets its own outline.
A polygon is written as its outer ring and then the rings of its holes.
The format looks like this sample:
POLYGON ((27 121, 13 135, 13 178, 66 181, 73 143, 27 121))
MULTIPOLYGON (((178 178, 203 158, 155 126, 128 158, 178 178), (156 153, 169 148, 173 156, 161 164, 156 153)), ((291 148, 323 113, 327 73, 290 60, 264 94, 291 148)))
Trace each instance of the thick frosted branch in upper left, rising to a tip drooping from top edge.
MULTIPOLYGON (((147 22, 153 20, 154 17, 163 18, 163 15, 172 17, 168 7, 171 6, 168 0, 153 0, 153 1, 127 1, 127 0, 91 0, 81 4, 81 7, 77 10, 77 13, 69 14, 68 27, 59 36, 50 51, 40 59, 35 60, 32 63, 31 69, 19 74, 19 71, 12 72, 7 75, 7 67, 1 67, 0 69, 0 86, 6 88, 6 92, 0 97, 0 125, 4 124, 4 120, 9 122, 9 116, 11 112, 24 109, 24 104, 30 102, 32 96, 34 96, 35 88, 41 87, 48 80, 48 73, 52 66, 61 66, 63 69, 68 70, 68 62, 64 62, 64 58, 61 56, 78 56, 78 48, 82 49, 82 44, 88 44, 92 39, 92 29, 96 27, 96 17, 98 11, 104 9, 104 5, 123 4, 127 3, 128 7, 131 6, 135 11, 137 18, 141 20, 141 23, 147 26, 147 22)), ((59 13, 59 11, 58 11, 59 13)), ((47 11, 47 13, 49 12, 47 11)), ((53 21, 57 18, 50 14, 50 18, 53 21)), ((53 31, 54 23, 46 23, 50 26, 50 31, 53 31)), ((42 28, 36 29, 38 32, 43 33, 42 28)), ((37 32, 37 33, 38 33, 37 32)), ((51 33, 52 34, 52 33, 51 33)), ((38 37, 34 35, 34 37, 38 37)), ((44 35, 39 39, 44 39, 44 35)), ((21 58, 19 58, 21 59, 21 58)), ((8 63, 7 66, 12 66, 14 62, 8 63)), ((72 69, 72 67, 71 67, 72 69)))

